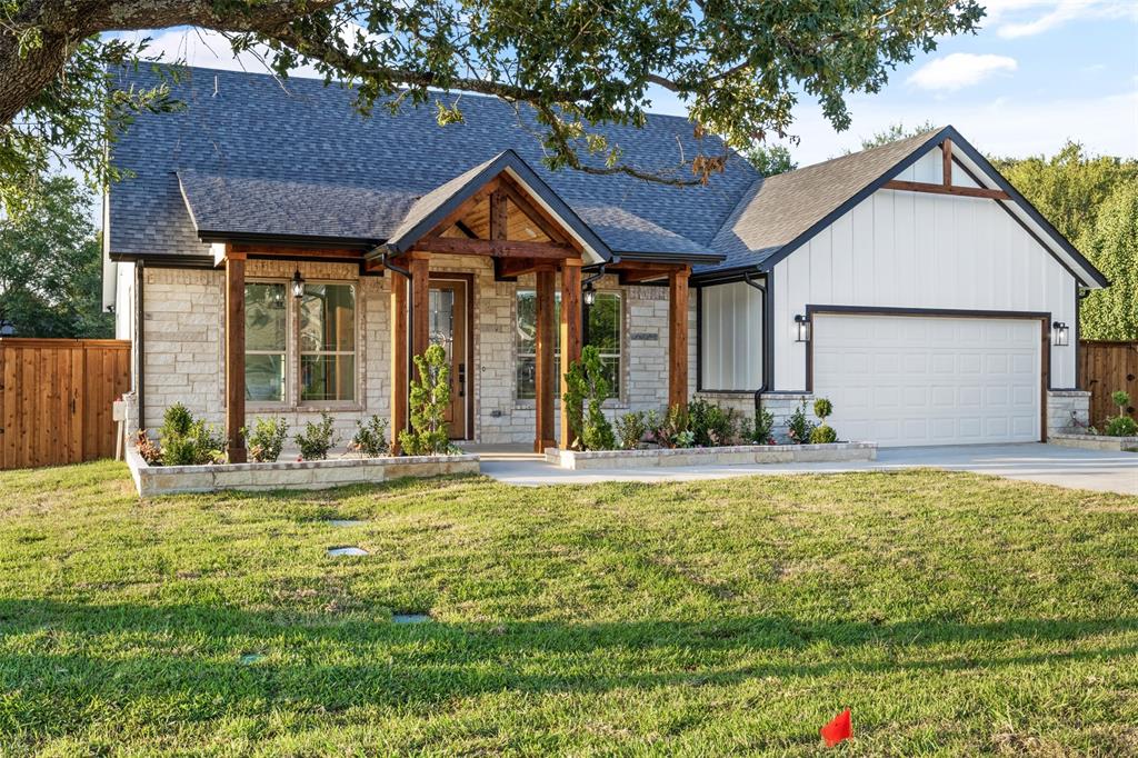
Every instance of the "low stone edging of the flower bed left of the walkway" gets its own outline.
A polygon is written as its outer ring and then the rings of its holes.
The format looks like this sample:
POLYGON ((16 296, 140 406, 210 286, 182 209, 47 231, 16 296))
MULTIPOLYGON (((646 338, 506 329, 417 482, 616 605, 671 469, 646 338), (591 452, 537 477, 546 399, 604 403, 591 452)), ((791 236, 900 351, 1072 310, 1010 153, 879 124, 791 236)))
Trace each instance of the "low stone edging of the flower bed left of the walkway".
POLYGON ((399 477, 478 473, 478 455, 415 455, 404 458, 339 458, 328 461, 150 465, 133 445, 126 463, 143 497, 221 489, 327 489, 373 484, 399 477))

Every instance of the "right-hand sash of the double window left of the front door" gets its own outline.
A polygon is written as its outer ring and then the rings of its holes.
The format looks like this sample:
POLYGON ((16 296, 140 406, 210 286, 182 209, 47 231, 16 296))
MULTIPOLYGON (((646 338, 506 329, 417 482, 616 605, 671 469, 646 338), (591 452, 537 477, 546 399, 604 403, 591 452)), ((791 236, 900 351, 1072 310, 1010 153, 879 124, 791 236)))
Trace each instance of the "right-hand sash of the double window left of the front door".
POLYGON ((305 285, 300 298, 300 401, 355 399, 355 287, 305 285))

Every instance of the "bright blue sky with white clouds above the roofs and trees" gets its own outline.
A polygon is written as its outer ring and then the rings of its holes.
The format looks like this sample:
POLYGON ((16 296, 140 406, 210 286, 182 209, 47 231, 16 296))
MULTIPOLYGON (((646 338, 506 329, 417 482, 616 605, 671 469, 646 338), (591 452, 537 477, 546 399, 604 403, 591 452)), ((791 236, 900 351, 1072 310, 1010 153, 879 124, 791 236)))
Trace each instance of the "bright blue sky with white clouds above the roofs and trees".
MULTIPOLYGON (((989 0, 974 35, 946 38, 899 67, 875 94, 849 98, 853 123, 836 133, 816 102, 795 108, 790 145, 800 165, 857 149, 891 124, 951 124, 979 150, 1052 155, 1069 139, 1092 154, 1138 157, 1138 0, 989 0)), ((196 30, 150 32, 151 52, 214 68, 263 72, 249 55, 196 30)), ((304 75, 298 71, 297 75, 304 75)), ((684 115, 671 93, 652 110, 684 115)))

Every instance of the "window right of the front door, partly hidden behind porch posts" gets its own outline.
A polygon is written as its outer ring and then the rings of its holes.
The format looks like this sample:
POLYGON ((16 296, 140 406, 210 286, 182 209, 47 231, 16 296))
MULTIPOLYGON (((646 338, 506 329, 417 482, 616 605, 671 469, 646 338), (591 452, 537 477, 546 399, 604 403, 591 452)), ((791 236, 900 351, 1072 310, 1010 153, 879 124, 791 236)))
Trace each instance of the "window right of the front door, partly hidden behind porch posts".
MULTIPOLYGON (((553 318, 561 323, 561 294, 555 296, 553 318)), ((620 332, 622 326, 622 308, 620 293, 599 291, 592 306, 585 306, 584 341, 601 352, 609 384, 615 397, 620 396, 620 332)), ((537 293, 531 289, 518 290, 517 321, 517 396, 518 399, 537 397, 537 293)), ((553 364, 558 377, 561 368, 561 329, 554 330, 553 364)))

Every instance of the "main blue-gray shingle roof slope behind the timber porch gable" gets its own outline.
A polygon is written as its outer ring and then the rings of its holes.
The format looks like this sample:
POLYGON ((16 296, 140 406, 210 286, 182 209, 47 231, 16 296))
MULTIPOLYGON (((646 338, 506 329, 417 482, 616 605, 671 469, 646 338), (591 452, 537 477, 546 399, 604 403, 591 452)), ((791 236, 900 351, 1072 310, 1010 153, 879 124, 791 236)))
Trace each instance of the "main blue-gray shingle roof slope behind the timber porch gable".
MULTIPOLYGON (((119 76, 122 86, 156 81, 148 71, 119 76)), ((263 74, 190 68, 175 96, 185 109, 142 114, 113 146, 115 165, 135 174, 109 191, 113 254, 206 255, 183 190, 204 230, 232 223, 249 232, 324 236, 335 226, 349 236, 389 233, 406 198, 506 149, 579 215, 609 208, 595 231, 615 252, 707 253, 758 176, 739 156, 708 187, 552 172, 542 164, 533 117, 494 98, 463 96, 465 122, 440 127, 430 107, 393 115, 377 105, 362 117, 351 107, 351 92, 319 80, 281 84, 263 74)), ((723 149, 718 141, 701 145, 691 124, 674 116, 649 116, 645 129, 604 131, 626 160, 649 171, 675 170, 682 155, 700 149, 723 149)))

